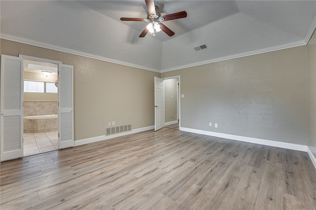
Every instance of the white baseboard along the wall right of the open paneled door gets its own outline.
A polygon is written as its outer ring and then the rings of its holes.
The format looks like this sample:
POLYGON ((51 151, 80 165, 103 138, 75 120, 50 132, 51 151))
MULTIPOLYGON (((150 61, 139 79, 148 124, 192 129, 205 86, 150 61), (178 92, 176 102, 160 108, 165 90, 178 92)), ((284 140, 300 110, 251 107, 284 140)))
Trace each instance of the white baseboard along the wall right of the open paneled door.
POLYGON ((308 147, 306 145, 295 144, 295 143, 286 143, 286 142, 274 141, 274 140, 262 140, 262 139, 256 139, 256 138, 251 138, 251 137, 242 137, 242 136, 236 136, 236 135, 230 135, 230 134, 216 133, 216 132, 211 132, 211 131, 202 131, 202 130, 191 129, 191 128, 181 127, 180 130, 196 133, 196 134, 203 134, 203 135, 212 136, 212 137, 219 137, 219 138, 230 139, 230 140, 239 140, 239 141, 245 141, 249 143, 257 143, 257 144, 262 144, 262 145, 267 145, 267 146, 275 146, 275 147, 280 147, 284 149, 293 149, 293 150, 298 150, 298 151, 303 151, 303 152, 307 152, 307 147, 308 147))

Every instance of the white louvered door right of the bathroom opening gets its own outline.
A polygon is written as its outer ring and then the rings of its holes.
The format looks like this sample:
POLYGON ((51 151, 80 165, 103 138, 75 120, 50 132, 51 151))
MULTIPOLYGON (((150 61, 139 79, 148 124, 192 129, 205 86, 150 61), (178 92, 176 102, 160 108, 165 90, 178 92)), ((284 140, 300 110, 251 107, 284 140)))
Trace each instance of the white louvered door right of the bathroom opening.
POLYGON ((74 67, 60 64, 58 70, 59 148, 74 146, 74 67))

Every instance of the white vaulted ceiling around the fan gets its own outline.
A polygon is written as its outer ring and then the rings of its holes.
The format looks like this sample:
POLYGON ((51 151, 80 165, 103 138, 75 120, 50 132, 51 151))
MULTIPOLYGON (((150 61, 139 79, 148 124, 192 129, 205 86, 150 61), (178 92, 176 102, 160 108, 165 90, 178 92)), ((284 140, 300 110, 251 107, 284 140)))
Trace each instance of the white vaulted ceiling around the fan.
POLYGON ((316 0, 157 0, 175 32, 138 36, 144 0, 0 1, 1 38, 147 70, 167 71, 307 43, 316 27, 316 0), (196 52, 194 47, 207 44, 196 52))

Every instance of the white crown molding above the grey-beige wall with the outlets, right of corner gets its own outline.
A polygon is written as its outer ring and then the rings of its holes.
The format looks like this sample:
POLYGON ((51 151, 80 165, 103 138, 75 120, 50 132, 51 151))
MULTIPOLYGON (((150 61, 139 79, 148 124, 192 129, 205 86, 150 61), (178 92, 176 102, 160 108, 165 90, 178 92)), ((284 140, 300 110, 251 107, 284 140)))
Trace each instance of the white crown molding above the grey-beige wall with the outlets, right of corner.
POLYGON ((161 70, 161 73, 162 72, 167 72, 167 71, 173 71, 173 70, 180 70, 180 69, 190 68, 190 67, 196 67, 196 66, 200 66, 200 65, 204 65, 204 64, 211 64, 211 63, 220 62, 220 61, 227 61, 227 60, 231 60, 231 59, 242 58, 242 57, 251 56, 251 55, 257 55, 257 54, 261 54, 261 53, 273 52, 273 51, 277 51, 277 50, 284 50, 284 49, 288 49, 288 48, 292 48, 292 47, 303 46, 303 45, 306 45, 306 44, 307 44, 307 42, 305 42, 305 40, 299 40, 299 41, 295 41, 295 42, 291 42, 291 43, 287 43, 287 44, 282 44, 282 45, 278 45, 278 46, 262 48, 262 49, 259 49, 259 50, 253 50, 253 51, 248 51, 248 52, 244 52, 244 53, 238 53, 238 54, 235 54, 235 55, 230 55, 230 56, 210 59, 210 60, 206 60, 206 61, 200 61, 200 62, 197 62, 197 63, 187 64, 187 65, 174 67, 174 68, 170 68, 170 69, 165 69, 165 70, 161 70))

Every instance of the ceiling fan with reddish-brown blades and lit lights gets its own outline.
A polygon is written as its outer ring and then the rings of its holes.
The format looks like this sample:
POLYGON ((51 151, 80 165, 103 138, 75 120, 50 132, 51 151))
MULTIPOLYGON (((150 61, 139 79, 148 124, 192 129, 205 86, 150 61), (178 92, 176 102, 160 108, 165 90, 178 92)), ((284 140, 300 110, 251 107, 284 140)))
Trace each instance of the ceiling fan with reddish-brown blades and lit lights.
POLYGON ((185 18, 187 17, 187 12, 176 12, 169 15, 161 16, 161 14, 157 11, 158 6, 155 5, 154 0, 145 0, 146 6, 148 9, 147 18, 120 18, 121 21, 142 21, 142 22, 149 22, 147 27, 144 29, 144 31, 139 35, 139 37, 144 37, 147 35, 148 32, 155 35, 155 33, 163 31, 168 36, 173 36, 174 32, 171 31, 168 27, 166 27, 161 22, 168 21, 168 20, 175 20, 179 18, 185 18))

